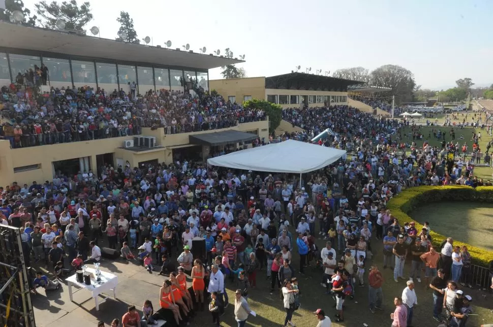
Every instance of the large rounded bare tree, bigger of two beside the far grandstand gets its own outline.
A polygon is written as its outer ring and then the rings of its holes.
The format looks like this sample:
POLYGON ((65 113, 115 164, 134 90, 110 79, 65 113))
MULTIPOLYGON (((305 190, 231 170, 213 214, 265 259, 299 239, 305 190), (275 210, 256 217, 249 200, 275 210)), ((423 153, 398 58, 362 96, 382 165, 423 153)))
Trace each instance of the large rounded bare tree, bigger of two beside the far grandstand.
POLYGON ((395 95, 397 103, 411 99, 416 86, 413 73, 398 65, 383 65, 373 70, 369 84, 391 88, 391 91, 383 92, 382 95, 395 95))

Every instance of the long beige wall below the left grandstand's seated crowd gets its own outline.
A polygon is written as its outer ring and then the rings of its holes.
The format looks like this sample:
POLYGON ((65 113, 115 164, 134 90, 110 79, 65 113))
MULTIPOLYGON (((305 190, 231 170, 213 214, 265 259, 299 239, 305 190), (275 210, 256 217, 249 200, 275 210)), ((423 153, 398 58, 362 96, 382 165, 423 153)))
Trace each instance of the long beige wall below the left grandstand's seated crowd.
POLYGON ((117 159, 124 163, 129 161, 132 167, 136 167, 139 162, 158 159, 159 162, 170 164, 172 158, 172 147, 189 144, 189 136, 192 134, 202 134, 208 132, 219 132, 228 129, 248 132, 256 131, 259 137, 268 138, 269 122, 244 123, 231 128, 201 131, 194 133, 180 133, 165 135, 163 128, 151 130, 143 128, 142 135, 156 137, 157 146, 163 148, 149 149, 148 151, 131 151, 120 149, 123 147, 124 140, 133 139, 133 136, 114 137, 100 140, 80 141, 72 143, 52 144, 40 147, 29 147, 20 149, 10 149, 8 140, 0 140, 0 185, 11 185, 17 181, 19 185, 24 183, 30 185, 33 180, 38 183, 53 179, 53 161, 67 160, 74 158, 89 157, 90 167, 94 171, 97 169, 96 156, 106 153, 113 154, 113 162, 116 165, 117 159), (38 169, 27 170, 14 173, 14 168, 39 165, 38 169))

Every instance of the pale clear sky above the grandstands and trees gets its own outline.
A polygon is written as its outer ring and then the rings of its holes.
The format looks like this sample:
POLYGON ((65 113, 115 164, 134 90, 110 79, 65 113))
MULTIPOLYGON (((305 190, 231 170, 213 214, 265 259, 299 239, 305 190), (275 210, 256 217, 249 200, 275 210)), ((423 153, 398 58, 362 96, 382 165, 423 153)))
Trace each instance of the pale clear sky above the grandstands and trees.
MULTIPOLYGON (((35 11, 35 0, 24 0, 35 11)), ((51 2, 48 0, 47 2, 51 2)), ((79 4, 81 0, 78 1, 79 4)), ((453 87, 470 77, 493 83, 491 0, 101 0, 90 1, 102 38, 115 38, 119 11, 140 39, 172 48, 230 48, 245 54, 249 77, 384 64, 411 70, 422 88, 453 87)), ((131 59, 131 58, 129 58, 131 59)), ((220 68, 209 71, 220 78, 220 68)))

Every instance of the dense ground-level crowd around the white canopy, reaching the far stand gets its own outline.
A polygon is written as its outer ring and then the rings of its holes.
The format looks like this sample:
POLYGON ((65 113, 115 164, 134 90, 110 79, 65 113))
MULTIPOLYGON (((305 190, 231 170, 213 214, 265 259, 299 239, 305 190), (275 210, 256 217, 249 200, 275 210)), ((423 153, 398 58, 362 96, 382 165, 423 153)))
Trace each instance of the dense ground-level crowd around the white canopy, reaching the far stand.
MULTIPOLYGON (((350 107, 325 110, 328 114, 321 108, 292 109, 285 115, 295 124, 306 124, 313 134, 331 128, 335 135, 322 139, 321 146, 351 140, 357 147, 349 158, 301 179, 293 174, 207 168, 187 160, 134 168, 104 165, 96 173, 57 174, 43 184, 14 182, 0 188, 0 219, 24 228, 26 262, 43 260, 60 279, 84 263, 100 262, 103 245, 149 273, 168 275, 159 304, 176 324, 205 310, 206 301, 212 321, 219 324, 229 305, 228 287, 237 289, 234 316, 243 326, 253 315, 248 300, 255 297, 250 290, 257 288, 259 278, 270 279, 270 287, 259 292, 274 295, 278 290, 286 310, 285 326, 294 325, 292 316, 302 304, 303 287, 313 280, 323 286, 321 296, 325 292, 333 298, 335 321, 351 320, 345 316, 348 305, 363 308, 364 301, 351 302, 359 297, 358 285, 367 284, 366 310, 376 313, 384 309, 381 286, 386 281, 378 269, 380 253, 372 250, 372 244, 382 242, 383 269, 393 271, 396 283, 407 280, 402 295, 394 299, 393 325, 409 327, 418 296, 432 296, 414 289, 424 265, 435 303, 430 316, 464 326, 472 298, 457 296, 456 287, 471 283, 467 248, 454 248, 450 238, 439 253, 431 246, 429 224, 418 231, 413 222, 399 222, 386 209, 388 200, 405 188, 453 183, 448 162, 426 143, 410 154, 393 153, 391 144, 402 123, 372 118, 350 107), (196 238, 204 239, 206 250, 198 260, 193 256, 196 238), (317 239, 324 239, 325 247, 319 248, 317 239), (437 270, 440 257, 443 274, 437 270), (67 271, 60 270, 60 264, 67 271), (299 282, 297 276, 313 272, 308 267, 319 277, 299 282), (191 289, 187 276, 193 280, 191 289), (450 282, 444 287, 437 277, 450 282)), ((460 169, 468 178, 473 176, 471 164, 463 163, 460 169)), ((43 275, 37 279, 33 288, 55 288, 43 275)), ((139 317, 144 319, 139 320, 141 325, 151 323, 149 305, 144 307, 147 315, 139 317)), ((134 312, 129 308, 123 319, 135 320, 134 312)), ((321 326, 330 324, 323 310, 316 315, 321 326)))

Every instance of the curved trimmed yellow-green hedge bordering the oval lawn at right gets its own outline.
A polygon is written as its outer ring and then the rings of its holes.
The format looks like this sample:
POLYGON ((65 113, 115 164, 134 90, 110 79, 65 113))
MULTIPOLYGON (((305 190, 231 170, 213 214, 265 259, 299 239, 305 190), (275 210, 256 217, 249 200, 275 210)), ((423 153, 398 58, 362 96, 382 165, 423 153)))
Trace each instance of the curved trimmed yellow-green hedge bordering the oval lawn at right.
MULTIPOLYGON (((397 218, 400 224, 405 222, 415 221, 410 216, 414 209, 431 202, 440 201, 469 201, 469 202, 493 202, 493 187, 477 187, 473 189, 468 186, 419 186, 406 189, 390 199, 387 203, 387 209, 397 218)), ((430 222, 433 229, 433 220, 423 219, 430 222)), ((416 229, 421 230, 423 226, 416 222, 416 229)), ((454 238, 454 235, 441 235, 434 231, 430 231, 432 242, 435 247, 440 247, 440 244, 447 237, 454 238)), ((454 238, 454 246, 466 245, 471 253, 473 264, 488 267, 489 262, 493 260, 493 252, 485 249, 460 242, 454 238)))

